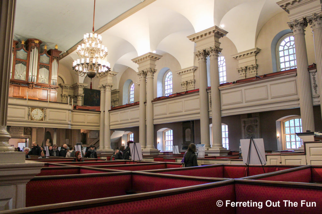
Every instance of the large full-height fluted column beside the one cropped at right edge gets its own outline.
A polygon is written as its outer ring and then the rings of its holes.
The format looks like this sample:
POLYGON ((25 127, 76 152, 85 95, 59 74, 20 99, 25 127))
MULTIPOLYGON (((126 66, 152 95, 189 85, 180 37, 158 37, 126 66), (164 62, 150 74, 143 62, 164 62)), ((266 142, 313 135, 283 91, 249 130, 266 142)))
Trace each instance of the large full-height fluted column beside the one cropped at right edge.
POLYGON ((304 29, 308 23, 305 20, 295 20, 289 22, 289 27, 293 30, 297 63, 297 88, 300 101, 300 111, 303 132, 314 131, 314 117, 312 94, 310 85, 310 74, 308 72, 308 55, 305 44, 304 29))

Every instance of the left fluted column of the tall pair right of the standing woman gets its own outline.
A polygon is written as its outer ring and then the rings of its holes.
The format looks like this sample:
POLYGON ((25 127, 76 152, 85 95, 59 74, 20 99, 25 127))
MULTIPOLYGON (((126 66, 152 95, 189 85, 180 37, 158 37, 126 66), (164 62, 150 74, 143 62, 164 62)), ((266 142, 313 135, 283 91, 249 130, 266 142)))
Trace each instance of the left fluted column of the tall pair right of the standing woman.
POLYGON ((199 64, 199 96, 200 96, 200 139, 201 144, 205 144, 205 148, 210 148, 209 133, 209 111, 208 111, 208 94, 207 94, 207 51, 201 50, 195 53, 198 57, 199 64))

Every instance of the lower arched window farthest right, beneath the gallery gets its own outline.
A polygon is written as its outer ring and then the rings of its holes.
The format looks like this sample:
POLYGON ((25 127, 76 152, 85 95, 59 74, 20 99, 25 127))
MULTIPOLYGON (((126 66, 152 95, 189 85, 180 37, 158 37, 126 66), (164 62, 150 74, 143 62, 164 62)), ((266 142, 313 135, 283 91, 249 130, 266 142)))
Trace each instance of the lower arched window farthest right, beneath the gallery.
POLYGON ((301 146, 302 140, 295 134, 302 132, 302 120, 300 117, 293 117, 283 121, 284 138, 283 143, 285 149, 298 149, 301 146))

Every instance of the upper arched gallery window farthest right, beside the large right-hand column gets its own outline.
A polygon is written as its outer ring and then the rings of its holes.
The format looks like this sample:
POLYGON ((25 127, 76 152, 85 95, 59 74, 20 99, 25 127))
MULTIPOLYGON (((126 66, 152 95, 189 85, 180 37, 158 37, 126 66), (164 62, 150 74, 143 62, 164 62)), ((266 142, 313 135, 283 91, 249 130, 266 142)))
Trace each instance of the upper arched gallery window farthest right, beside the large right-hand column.
POLYGON ((279 71, 296 68, 295 44, 292 34, 282 37, 277 45, 279 71))

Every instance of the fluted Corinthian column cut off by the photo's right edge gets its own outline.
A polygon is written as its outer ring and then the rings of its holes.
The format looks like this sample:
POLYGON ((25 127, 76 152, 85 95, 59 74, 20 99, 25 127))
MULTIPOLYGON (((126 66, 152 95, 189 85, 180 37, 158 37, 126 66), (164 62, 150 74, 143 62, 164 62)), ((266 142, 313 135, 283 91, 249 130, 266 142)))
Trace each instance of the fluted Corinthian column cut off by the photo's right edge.
POLYGON ((313 31, 315 61, 317 64, 317 80, 319 83, 318 90, 322 113, 322 14, 313 14, 312 17, 308 18, 308 22, 310 23, 313 31))

